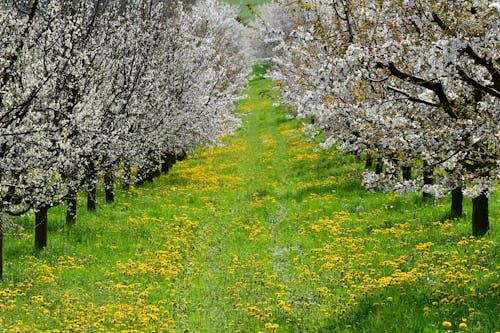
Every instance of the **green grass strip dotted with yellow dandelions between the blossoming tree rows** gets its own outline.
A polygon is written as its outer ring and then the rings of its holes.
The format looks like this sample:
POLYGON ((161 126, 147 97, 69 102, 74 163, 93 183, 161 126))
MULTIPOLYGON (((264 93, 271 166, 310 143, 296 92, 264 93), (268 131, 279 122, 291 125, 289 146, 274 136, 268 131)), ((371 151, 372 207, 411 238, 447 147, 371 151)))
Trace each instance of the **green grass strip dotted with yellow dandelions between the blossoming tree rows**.
POLYGON ((468 201, 448 220, 449 199, 366 192, 359 160, 273 106, 264 70, 224 146, 73 227, 52 209, 43 251, 21 219, 0 332, 499 331, 499 196, 475 239, 468 201))

